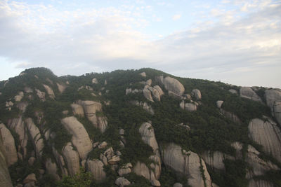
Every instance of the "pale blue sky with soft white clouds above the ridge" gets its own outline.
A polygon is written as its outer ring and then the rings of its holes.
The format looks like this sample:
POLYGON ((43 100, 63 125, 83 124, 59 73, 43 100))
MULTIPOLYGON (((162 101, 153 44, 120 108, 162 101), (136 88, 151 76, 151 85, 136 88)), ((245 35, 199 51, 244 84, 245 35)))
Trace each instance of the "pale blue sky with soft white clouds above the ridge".
POLYGON ((281 1, 0 0, 0 80, 31 67, 281 88, 281 1))

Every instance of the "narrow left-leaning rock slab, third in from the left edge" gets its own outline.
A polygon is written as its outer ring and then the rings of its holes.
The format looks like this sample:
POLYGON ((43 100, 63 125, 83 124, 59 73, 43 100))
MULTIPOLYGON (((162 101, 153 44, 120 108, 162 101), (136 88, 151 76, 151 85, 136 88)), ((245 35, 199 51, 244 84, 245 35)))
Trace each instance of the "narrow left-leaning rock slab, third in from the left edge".
POLYGON ((32 144, 36 151, 36 156, 37 158, 41 158, 41 151, 44 148, 44 140, 41 138, 41 133, 38 127, 33 123, 32 118, 27 118, 25 123, 27 123, 28 132, 30 132, 30 136, 32 137, 32 144))

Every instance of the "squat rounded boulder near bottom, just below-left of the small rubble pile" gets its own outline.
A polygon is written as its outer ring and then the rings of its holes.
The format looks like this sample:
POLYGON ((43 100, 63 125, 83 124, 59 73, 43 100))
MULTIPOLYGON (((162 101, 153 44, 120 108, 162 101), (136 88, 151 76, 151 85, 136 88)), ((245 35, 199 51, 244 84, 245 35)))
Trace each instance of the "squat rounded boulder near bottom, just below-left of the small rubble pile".
POLYGON ((86 170, 93 174, 93 178, 97 182, 103 181, 106 177, 105 171, 103 171, 103 162, 100 160, 87 160, 86 170))

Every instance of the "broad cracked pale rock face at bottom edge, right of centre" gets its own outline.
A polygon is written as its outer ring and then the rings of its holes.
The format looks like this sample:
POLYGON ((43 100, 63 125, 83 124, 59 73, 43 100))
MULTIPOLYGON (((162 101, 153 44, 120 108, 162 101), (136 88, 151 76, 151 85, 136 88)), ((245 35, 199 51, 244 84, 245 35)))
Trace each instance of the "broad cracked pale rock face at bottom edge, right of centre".
MULTIPOLYGON (((204 181, 200 172, 200 158, 192 151, 183 151, 176 144, 168 144, 162 149, 162 160, 166 167, 171 167, 178 174, 188 177, 190 186, 204 186, 204 181)), ((201 160, 204 169, 205 182, 207 186, 211 186, 211 178, 207 171, 204 160, 201 160)))

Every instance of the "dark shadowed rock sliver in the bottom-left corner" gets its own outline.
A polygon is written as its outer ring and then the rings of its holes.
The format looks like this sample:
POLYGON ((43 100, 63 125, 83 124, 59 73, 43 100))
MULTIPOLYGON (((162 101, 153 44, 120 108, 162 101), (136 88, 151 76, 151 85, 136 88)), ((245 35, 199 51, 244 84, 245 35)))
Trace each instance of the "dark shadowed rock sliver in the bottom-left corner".
POLYGON ((0 132, 0 186, 12 187, 12 181, 6 163, 6 153, 0 132))

